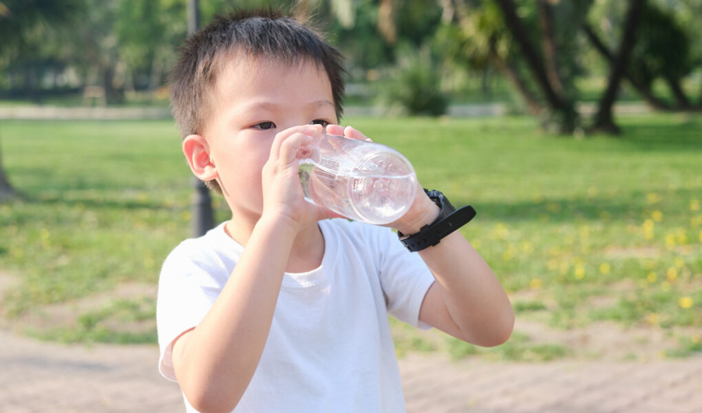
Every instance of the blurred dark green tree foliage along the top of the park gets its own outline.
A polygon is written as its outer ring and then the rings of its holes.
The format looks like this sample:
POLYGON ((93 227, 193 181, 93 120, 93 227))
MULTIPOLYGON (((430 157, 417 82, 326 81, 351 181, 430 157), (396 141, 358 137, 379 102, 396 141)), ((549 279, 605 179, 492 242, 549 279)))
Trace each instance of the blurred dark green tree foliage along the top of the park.
MULTIPOLYGON (((203 23, 234 7, 312 15, 347 56, 352 81, 371 82, 370 89, 378 73, 388 74, 391 89, 404 79, 407 90, 422 89, 415 81, 434 82, 432 89, 442 93, 459 74, 505 79, 545 129, 569 133, 611 122, 621 79, 654 108, 702 109, 702 86, 699 98, 686 89, 701 70, 702 42, 692 39, 702 36, 695 18, 702 0, 639 1, 200 0, 199 6, 203 23), (638 10, 632 4, 645 7, 627 37, 626 22, 638 10), (409 57, 424 48, 430 64, 418 57, 424 52, 409 57), (576 110, 585 98, 580 85, 592 77, 607 77, 596 99, 604 121, 583 119, 576 110), (661 82, 669 96, 656 96, 661 82)), ((156 93, 187 33, 185 4, 0 0, 0 93, 41 100, 43 88, 97 86, 107 103, 120 103, 131 91, 156 93), (71 19, 76 24, 58 24, 71 19)))

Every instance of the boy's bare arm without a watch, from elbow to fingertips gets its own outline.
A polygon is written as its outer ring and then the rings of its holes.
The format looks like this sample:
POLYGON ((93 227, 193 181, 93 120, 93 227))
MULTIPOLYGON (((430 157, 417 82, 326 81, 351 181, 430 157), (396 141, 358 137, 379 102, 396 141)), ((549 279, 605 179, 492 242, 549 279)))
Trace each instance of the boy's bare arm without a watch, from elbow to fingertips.
POLYGON ((262 171, 263 212, 246 249, 205 317, 173 343, 178 384, 199 412, 230 412, 244 395, 265 347, 293 242, 322 219, 322 209, 303 197, 295 159, 320 130, 307 125, 277 134, 262 171))

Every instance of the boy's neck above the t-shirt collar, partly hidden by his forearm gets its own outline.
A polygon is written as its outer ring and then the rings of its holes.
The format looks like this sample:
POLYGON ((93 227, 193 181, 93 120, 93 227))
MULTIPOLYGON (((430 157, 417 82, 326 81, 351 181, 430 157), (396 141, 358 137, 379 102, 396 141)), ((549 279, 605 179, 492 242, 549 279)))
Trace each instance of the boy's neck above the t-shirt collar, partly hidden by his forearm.
MULTIPOLYGON (((225 225, 225 232, 234 241, 246 248, 255 226, 256 223, 245 225, 232 218, 225 225)), ((317 223, 300 230, 293 241, 288 265, 285 269, 286 273, 305 273, 318 268, 319 265, 322 265, 324 247, 324 235, 322 235, 322 230, 319 229, 317 223)))

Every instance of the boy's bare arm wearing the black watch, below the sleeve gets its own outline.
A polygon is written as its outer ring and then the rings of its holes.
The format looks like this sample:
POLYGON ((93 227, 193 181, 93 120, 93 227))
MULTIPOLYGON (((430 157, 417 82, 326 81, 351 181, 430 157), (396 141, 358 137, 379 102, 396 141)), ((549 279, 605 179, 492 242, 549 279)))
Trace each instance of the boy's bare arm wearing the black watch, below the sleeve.
MULTIPOLYGON (((420 190, 398 221, 403 234, 415 234, 439 216, 439 207, 420 190), (411 218, 411 217, 416 218, 411 218)), ((419 251, 436 282, 425 295, 419 319, 451 336, 479 346, 498 346, 509 339, 515 315, 510 300, 489 265, 458 230, 439 244, 419 251)))

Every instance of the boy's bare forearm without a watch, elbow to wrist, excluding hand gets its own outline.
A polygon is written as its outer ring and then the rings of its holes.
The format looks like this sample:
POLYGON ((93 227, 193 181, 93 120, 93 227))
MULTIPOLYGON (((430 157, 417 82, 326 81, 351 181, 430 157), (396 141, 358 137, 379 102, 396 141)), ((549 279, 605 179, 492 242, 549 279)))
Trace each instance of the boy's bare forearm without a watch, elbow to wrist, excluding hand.
POLYGON ((283 221, 259 221, 212 308, 173 344, 178 384, 199 412, 230 412, 249 386, 294 238, 283 221))

